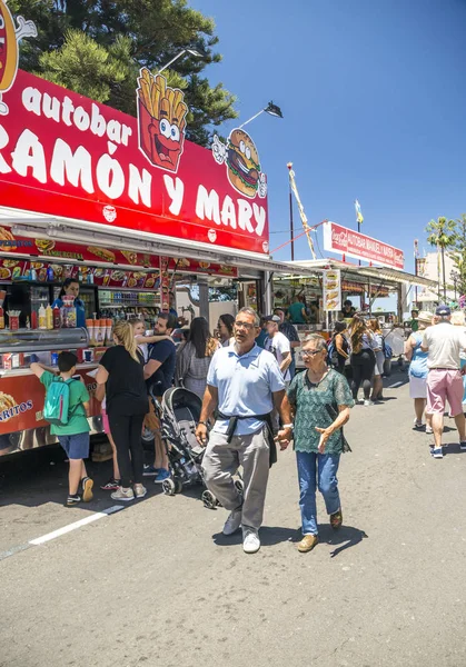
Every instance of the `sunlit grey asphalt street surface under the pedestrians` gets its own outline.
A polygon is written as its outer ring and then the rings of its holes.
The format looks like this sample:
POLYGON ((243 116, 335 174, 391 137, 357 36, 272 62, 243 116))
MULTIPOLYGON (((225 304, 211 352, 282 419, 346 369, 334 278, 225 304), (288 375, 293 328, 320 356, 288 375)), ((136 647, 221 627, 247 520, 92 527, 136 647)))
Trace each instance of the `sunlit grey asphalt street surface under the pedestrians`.
MULTIPOLYGON (((221 536, 226 512, 205 509, 200 489, 171 498, 152 484, 143 500, 30 546, 116 502, 98 491, 65 508, 58 450, 0 461, 1 667, 466 665, 466 454, 448 430, 448 455, 432 459, 407 386, 385 394, 346 429, 345 526, 331 531, 319 499, 321 544, 306 555, 291 450, 271 471, 252 556, 221 536)), ((109 472, 90 469, 99 482, 109 472)))

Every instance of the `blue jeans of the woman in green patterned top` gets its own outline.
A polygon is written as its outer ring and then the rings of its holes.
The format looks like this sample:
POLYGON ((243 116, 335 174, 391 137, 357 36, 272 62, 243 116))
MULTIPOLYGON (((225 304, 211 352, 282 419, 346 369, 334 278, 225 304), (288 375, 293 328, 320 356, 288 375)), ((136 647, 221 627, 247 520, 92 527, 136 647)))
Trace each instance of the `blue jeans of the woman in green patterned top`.
POLYGON ((296 459, 298 462, 303 535, 318 535, 317 487, 324 496, 327 514, 335 514, 340 508, 337 479, 340 455, 297 451, 296 459))

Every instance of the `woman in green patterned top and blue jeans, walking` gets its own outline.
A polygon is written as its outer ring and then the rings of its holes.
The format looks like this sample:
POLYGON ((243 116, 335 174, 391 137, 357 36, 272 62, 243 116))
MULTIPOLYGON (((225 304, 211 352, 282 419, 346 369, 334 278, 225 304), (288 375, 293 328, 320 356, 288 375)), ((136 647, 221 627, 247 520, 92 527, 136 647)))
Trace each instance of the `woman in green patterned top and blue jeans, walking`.
POLYGON ((355 401, 346 378, 327 367, 327 345, 321 336, 311 334, 305 339, 303 359, 307 370, 293 380, 288 400, 295 411, 294 440, 303 521, 298 550, 305 552, 319 541, 316 478, 331 527, 337 529, 343 522, 337 470, 347 447, 341 427, 348 421, 355 401))

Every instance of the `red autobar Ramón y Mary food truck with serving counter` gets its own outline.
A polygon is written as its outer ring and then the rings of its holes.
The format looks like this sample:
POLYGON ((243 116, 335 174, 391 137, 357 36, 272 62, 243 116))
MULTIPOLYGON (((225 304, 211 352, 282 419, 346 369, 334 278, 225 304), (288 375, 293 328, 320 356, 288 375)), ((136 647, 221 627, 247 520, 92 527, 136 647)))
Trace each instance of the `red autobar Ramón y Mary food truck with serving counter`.
POLYGON ((136 315, 151 328, 178 282, 196 282, 208 317, 219 279, 240 285, 239 306, 270 312, 271 273, 291 271, 269 256, 267 178, 247 132, 215 137, 211 149, 189 142, 182 91, 146 69, 137 117, 10 74, 0 93, 0 456, 54 441, 31 355, 56 370, 60 350, 77 352, 99 432, 89 371, 116 320, 136 315), (72 302, 50 317, 67 278, 79 282, 82 327, 72 302))

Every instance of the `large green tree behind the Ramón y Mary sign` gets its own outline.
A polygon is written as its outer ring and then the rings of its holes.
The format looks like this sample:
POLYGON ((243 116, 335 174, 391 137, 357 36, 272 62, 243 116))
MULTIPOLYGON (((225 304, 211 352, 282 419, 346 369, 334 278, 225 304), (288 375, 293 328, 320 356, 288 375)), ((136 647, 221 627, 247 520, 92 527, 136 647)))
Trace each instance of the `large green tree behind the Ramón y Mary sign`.
POLYGON ((202 58, 187 54, 163 71, 169 86, 185 90, 187 138, 207 146, 215 127, 238 117, 236 98, 202 76, 221 60, 215 22, 187 0, 10 0, 9 7, 38 28, 37 39, 21 43, 27 71, 135 116, 139 69, 156 72, 191 48, 202 58))

